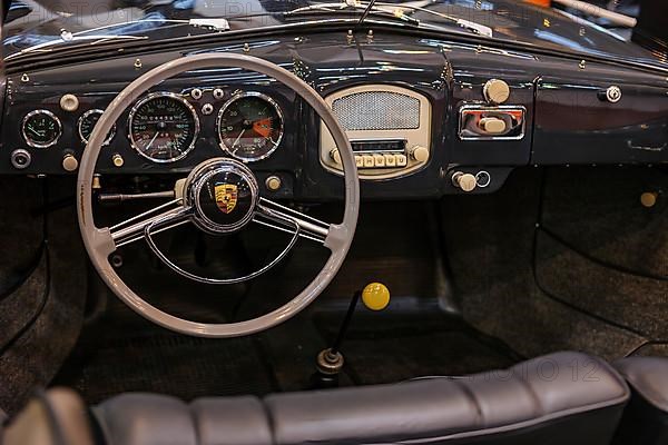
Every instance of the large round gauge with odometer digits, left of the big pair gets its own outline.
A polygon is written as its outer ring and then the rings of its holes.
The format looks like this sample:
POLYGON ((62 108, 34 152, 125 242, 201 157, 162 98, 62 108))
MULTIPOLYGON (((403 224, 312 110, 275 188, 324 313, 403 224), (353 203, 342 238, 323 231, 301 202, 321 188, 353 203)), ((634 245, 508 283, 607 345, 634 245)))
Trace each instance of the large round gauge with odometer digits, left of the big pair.
POLYGON ((154 162, 174 162, 195 148, 199 118, 180 96, 154 92, 139 100, 128 118, 130 144, 154 162))

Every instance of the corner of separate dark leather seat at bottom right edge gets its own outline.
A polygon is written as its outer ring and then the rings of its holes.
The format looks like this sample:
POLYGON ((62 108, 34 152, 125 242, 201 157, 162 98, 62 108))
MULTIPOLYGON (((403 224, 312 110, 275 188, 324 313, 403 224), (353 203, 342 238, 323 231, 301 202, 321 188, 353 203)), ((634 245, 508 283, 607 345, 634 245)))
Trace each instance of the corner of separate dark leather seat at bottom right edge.
POLYGON ((631 357, 615 367, 631 387, 615 444, 668 444, 668 358, 631 357))

